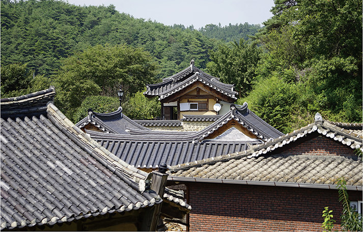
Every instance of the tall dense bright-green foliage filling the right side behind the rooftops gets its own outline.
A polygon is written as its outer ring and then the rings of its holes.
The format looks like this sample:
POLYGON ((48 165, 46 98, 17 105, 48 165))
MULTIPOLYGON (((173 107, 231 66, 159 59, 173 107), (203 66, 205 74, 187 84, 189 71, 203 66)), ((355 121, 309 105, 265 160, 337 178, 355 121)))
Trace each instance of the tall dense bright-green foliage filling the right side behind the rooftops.
POLYGON ((266 50, 257 68, 259 81, 239 103, 247 101, 285 133, 316 112, 331 121, 361 122, 361 5, 358 0, 275 0, 274 16, 256 37, 266 50))

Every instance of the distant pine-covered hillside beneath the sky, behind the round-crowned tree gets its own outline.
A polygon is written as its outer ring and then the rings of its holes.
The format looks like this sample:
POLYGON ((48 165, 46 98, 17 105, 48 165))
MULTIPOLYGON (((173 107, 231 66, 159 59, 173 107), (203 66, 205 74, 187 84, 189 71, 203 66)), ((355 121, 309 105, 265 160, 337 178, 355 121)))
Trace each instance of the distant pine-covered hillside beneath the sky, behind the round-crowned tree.
MULTIPOLYGON (((230 32, 239 40, 256 33, 254 25, 230 32)), ((221 28, 219 28, 221 29, 221 28)), ((79 7, 63 1, 1 1, 1 64, 28 63, 36 74, 51 76, 66 57, 97 44, 127 44, 143 47, 160 65, 158 77, 173 75, 189 65, 205 68, 210 61, 208 50, 222 38, 206 31, 208 37, 183 25, 133 18, 110 6, 79 7)), ((226 34, 227 35, 227 34, 226 34)), ((228 39, 227 39, 228 40, 228 39)))

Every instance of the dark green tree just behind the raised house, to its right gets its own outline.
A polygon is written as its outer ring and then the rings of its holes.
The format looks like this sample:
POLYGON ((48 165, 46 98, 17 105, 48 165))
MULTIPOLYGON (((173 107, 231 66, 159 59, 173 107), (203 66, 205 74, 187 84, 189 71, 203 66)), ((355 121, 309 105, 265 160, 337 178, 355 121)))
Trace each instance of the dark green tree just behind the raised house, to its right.
POLYGON ((209 52, 212 61, 207 69, 222 82, 235 84, 236 91, 244 96, 254 84, 261 49, 243 39, 230 45, 220 44, 217 51, 209 52))

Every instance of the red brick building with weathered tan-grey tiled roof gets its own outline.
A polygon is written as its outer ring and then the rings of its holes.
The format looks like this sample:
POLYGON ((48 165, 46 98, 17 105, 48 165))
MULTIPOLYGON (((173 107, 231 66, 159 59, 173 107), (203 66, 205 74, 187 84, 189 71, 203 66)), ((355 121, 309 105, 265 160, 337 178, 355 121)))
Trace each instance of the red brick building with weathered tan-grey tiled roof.
POLYGON ((362 213, 362 124, 315 120, 242 152, 170 167, 168 185, 184 185, 193 205, 190 230, 319 231, 324 207, 340 229, 341 178, 362 213))

